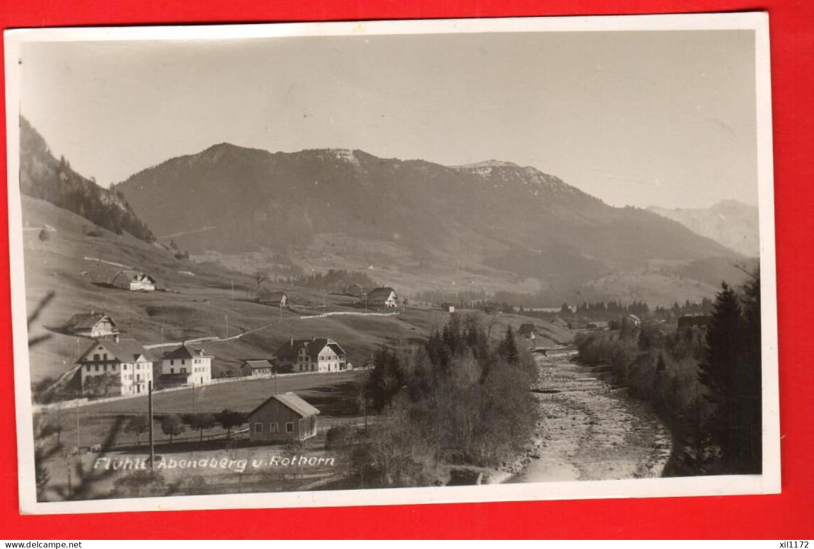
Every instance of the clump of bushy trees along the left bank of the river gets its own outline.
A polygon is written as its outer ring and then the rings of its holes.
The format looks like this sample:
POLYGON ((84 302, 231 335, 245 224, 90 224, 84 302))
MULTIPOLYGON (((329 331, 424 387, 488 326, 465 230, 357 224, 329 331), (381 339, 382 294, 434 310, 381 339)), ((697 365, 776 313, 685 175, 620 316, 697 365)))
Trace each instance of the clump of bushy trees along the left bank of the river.
POLYGON ((363 392, 379 420, 353 446, 367 486, 443 482, 444 464, 495 467, 532 436, 533 359, 509 330, 498 345, 478 316, 453 315, 425 345, 381 349, 363 392))

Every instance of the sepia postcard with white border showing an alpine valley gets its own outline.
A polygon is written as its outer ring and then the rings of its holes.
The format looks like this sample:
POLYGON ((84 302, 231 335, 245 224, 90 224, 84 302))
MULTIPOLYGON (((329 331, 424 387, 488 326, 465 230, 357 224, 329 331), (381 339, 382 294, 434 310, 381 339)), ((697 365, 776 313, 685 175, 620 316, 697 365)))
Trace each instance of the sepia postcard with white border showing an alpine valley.
POLYGON ((22 512, 777 493, 768 39, 7 31, 22 512))

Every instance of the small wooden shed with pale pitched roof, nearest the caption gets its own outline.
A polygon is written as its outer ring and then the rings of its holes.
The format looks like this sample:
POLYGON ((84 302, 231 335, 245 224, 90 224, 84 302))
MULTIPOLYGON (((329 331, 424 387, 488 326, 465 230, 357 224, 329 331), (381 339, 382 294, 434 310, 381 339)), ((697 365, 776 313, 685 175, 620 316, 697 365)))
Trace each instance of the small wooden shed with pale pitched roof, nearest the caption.
POLYGON ((249 412, 252 442, 304 441, 317 434, 319 410, 296 393, 275 394, 249 412))

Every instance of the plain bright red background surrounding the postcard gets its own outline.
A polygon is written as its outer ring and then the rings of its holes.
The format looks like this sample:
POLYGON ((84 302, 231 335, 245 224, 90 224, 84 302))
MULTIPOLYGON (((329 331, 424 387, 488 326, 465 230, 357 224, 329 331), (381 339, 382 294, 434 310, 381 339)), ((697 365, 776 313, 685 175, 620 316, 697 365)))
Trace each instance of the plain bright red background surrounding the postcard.
MULTIPOLYGON (((772 48, 782 494, 399 507, 20 516, 7 200, 0 186, 0 538, 775 538, 814 537, 814 2, 811 0, 6 0, 2 27, 769 13, 772 48)), ((2 68, 0 68, 2 70, 2 68)), ((2 103, 5 104, 5 103, 2 103)), ((5 115, 4 115, 5 117, 5 115)), ((5 119, 5 118, 4 118, 5 119)), ((5 150, 6 135, 2 134, 5 150)), ((0 156, 5 173, 6 156, 0 156)))

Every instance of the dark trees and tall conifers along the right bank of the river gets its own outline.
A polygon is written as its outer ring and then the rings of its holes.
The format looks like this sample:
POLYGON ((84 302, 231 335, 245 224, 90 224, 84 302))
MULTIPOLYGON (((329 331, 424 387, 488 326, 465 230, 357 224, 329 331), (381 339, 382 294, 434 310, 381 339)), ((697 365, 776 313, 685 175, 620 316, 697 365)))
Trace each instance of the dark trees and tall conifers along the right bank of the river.
POLYGON ((580 360, 609 364, 633 396, 654 405, 676 445, 668 473, 761 470, 760 277, 723 283, 707 327, 668 333, 658 323, 577 339, 580 360))

